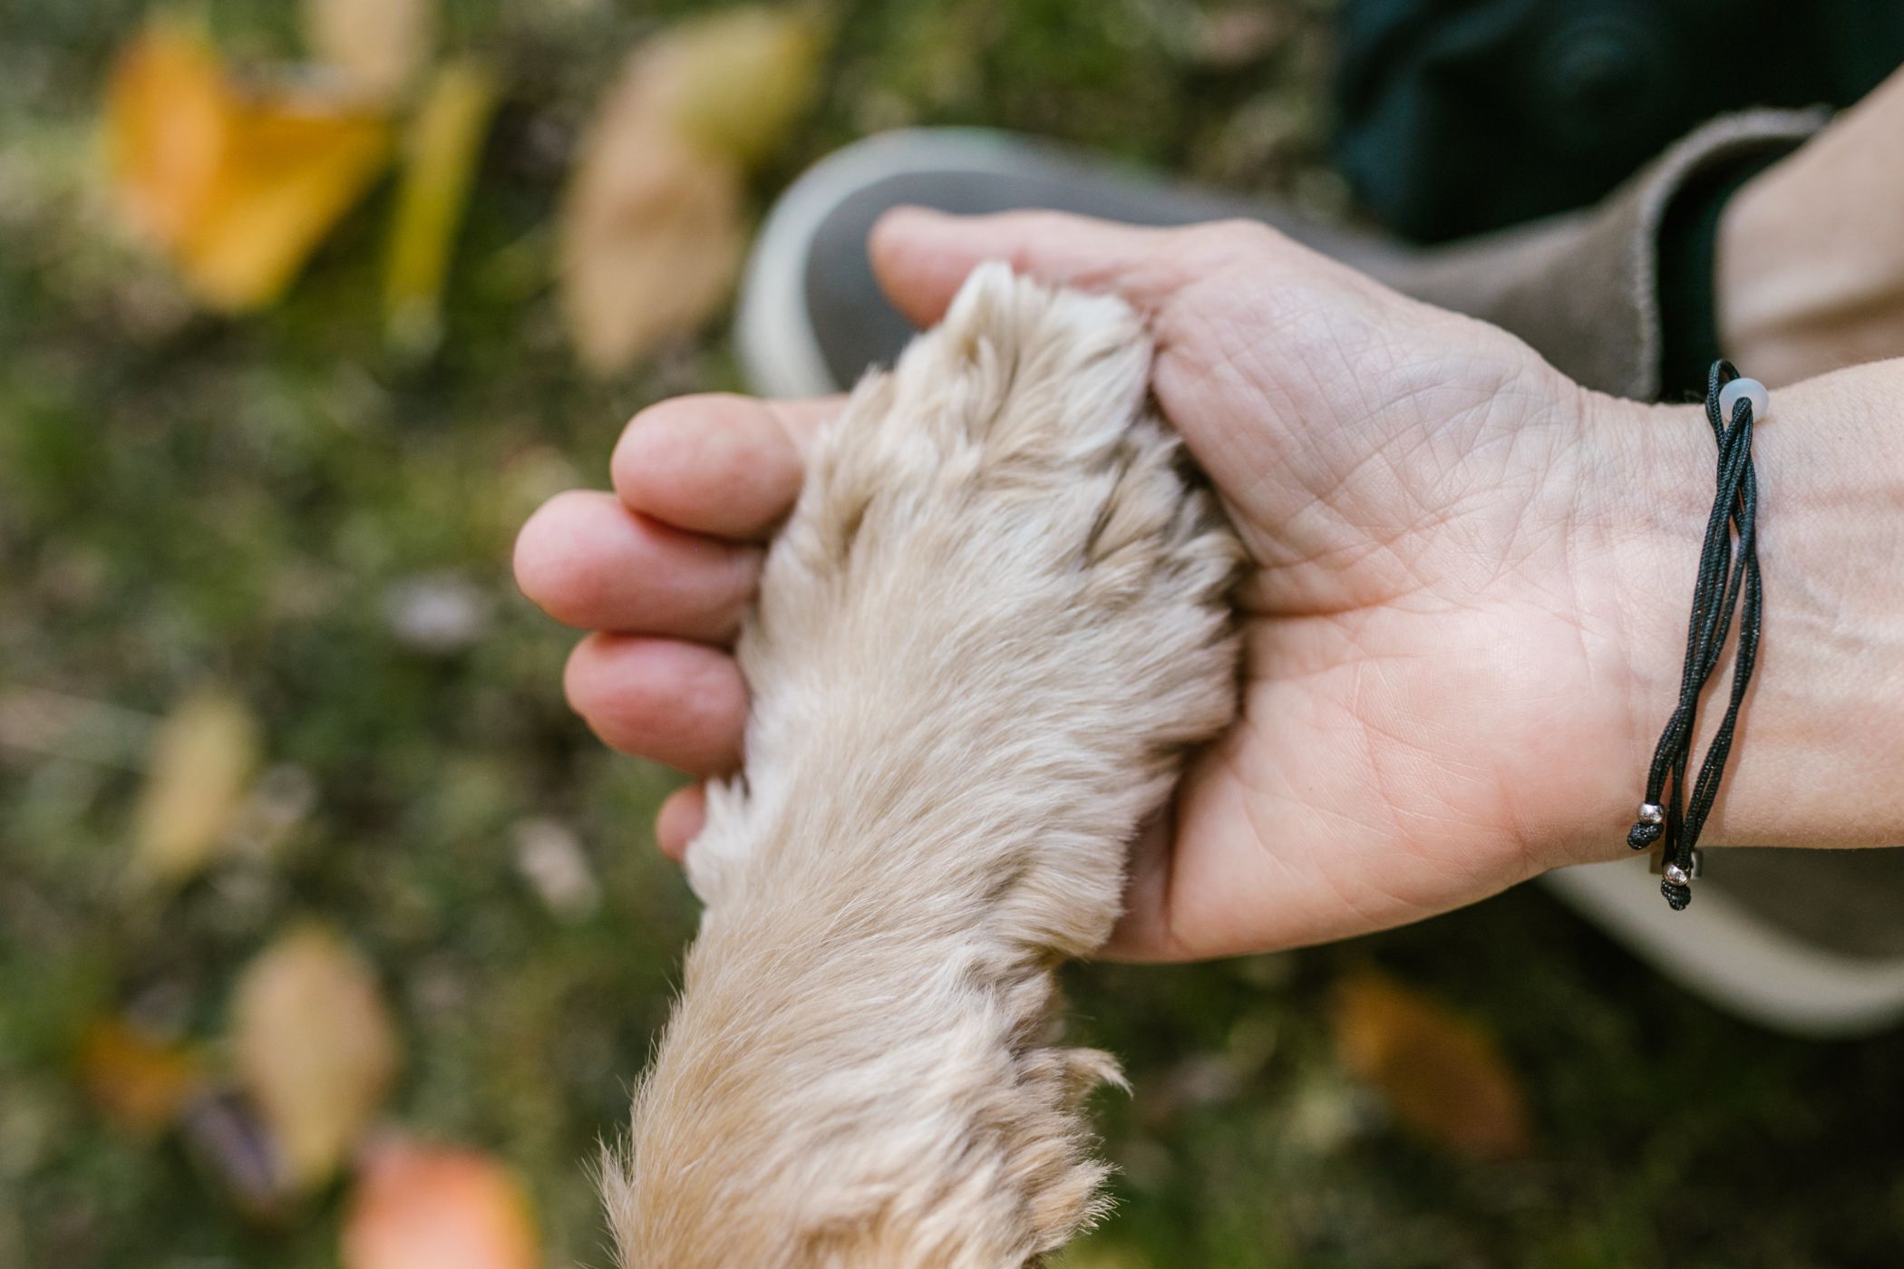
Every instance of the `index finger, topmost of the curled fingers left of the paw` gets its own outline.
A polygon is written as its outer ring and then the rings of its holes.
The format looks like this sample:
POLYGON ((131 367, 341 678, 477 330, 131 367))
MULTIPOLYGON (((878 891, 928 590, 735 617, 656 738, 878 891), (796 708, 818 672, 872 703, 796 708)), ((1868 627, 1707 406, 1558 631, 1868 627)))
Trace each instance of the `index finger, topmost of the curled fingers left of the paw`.
POLYGON ((836 398, 760 401, 731 394, 649 405, 615 445, 615 493, 678 529, 760 538, 800 495, 805 449, 836 398))

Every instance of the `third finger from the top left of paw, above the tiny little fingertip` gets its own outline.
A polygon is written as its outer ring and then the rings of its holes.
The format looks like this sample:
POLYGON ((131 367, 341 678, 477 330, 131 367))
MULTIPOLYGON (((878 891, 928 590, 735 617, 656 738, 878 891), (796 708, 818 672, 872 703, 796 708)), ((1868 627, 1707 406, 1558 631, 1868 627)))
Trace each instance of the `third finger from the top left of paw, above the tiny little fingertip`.
POLYGON ((746 687, 733 656, 699 643, 592 634, 562 675, 605 744, 697 776, 741 765, 746 687))

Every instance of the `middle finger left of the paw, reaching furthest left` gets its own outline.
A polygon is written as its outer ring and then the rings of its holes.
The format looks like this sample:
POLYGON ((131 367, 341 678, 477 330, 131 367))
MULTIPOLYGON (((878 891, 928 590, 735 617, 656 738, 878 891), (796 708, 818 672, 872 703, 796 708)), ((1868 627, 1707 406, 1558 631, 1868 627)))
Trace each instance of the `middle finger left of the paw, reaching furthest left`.
POLYGON ((731 639, 760 580, 760 548, 670 529, 611 493, 545 502, 516 537, 516 584, 579 630, 731 639))

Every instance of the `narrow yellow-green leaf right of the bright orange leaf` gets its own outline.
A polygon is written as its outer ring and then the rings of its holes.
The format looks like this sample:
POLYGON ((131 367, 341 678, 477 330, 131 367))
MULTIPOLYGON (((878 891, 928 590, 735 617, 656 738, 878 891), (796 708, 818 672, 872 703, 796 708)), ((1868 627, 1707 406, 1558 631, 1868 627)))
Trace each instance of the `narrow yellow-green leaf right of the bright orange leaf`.
POLYGON ((383 274, 385 331, 400 348, 428 352, 442 337, 449 251, 493 112, 495 80, 457 61, 434 74, 409 124, 383 274))

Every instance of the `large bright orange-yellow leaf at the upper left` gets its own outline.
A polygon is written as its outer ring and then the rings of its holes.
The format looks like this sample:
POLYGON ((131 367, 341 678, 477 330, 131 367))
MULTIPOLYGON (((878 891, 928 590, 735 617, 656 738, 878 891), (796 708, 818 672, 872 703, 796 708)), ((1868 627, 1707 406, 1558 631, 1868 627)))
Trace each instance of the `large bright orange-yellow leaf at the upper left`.
POLYGON ((369 188, 390 126, 356 97, 244 88, 202 36, 162 25, 114 67, 107 148, 131 223, 200 301, 246 310, 369 188))

